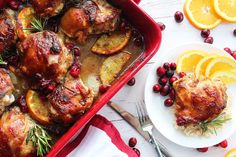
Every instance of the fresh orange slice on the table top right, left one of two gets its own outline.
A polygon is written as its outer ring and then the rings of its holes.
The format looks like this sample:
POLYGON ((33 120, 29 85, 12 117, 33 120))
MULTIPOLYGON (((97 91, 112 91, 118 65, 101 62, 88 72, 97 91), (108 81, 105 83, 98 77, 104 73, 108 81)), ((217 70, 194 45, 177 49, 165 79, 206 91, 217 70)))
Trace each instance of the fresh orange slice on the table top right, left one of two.
POLYGON ((212 29, 221 23, 212 0, 186 0, 184 12, 190 23, 199 29, 212 29))

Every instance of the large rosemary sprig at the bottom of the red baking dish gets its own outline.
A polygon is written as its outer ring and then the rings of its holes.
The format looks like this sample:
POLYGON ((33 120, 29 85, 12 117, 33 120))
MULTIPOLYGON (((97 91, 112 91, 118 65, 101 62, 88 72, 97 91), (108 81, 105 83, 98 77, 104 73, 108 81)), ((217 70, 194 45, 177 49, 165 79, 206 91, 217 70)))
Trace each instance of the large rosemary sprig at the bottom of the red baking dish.
POLYGON ((35 124, 28 133, 26 144, 29 141, 32 141, 34 147, 37 148, 37 156, 43 157, 51 148, 50 141, 52 141, 52 138, 43 127, 35 124))

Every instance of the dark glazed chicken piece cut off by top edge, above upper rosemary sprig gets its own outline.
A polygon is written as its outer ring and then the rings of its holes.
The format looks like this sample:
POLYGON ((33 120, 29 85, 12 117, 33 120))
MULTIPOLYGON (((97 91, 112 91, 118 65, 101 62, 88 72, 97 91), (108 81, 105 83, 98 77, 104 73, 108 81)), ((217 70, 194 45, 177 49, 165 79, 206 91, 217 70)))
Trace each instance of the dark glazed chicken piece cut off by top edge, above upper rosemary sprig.
POLYGON ((45 18, 60 13, 64 7, 65 0, 32 0, 32 5, 37 15, 45 18))

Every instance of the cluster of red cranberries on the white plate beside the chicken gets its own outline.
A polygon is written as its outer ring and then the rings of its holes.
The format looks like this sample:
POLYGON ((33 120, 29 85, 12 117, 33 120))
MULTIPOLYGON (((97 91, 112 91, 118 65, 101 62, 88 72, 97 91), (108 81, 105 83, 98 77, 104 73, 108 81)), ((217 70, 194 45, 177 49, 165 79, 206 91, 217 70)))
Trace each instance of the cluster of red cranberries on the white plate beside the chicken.
MULTIPOLYGON (((163 66, 157 68, 156 73, 158 78, 158 83, 153 86, 153 92, 160 93, 162 96, 169 95, 164 101, 165 106, 170 107, 174 104, 175 100, 175 90, 172 88, 173 83, 178 80, 175 76, 176 63, 164 63, 163 66)), ((179 73, 179 77, 184 77, 185 73, 179 73)))

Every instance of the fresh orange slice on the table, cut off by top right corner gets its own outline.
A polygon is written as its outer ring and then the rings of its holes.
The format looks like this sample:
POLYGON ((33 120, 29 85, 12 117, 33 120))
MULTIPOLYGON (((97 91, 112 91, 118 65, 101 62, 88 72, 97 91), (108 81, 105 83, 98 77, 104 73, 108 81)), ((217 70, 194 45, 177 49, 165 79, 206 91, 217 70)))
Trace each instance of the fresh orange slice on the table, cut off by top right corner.
POLYGON ((228 22, 236 22, 236 0, 214 0, 216 13, 228 22))

